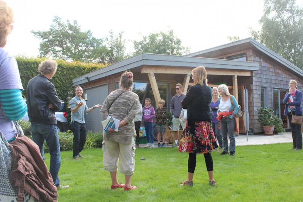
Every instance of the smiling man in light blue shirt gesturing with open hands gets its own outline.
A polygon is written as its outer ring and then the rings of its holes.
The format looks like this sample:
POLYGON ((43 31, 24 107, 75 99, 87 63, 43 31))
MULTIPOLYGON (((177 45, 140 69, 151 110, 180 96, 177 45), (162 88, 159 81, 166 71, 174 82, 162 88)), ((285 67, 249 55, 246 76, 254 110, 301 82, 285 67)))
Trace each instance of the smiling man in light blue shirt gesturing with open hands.
POLYGON ((80 160, 79 157, 83 157, 80 152, 82 151, 86 141, 86 123, 84 120, 84 114, 90 113, 95 108, 101 107, 102 105, 95 105, 88 108, 85 99, 82 98, 83 89, 81 86, 77 86, 75 89, 76 96, 70 99, 69 106, 72 111, 71 117, 71 129, 74 135, 72 140, 72 157, 74 160, 80 160))

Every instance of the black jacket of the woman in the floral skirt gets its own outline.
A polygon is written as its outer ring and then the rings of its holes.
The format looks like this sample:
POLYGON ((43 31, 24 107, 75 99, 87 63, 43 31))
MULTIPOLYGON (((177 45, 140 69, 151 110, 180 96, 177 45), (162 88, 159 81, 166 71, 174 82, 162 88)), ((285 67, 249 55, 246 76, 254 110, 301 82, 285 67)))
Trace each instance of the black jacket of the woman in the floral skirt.
POLYGON ((187 120, 210 121, 214 114, 210 108, 211 88, 207 85, 191 86, 182 101, 182 108, 187 109, 187 120))

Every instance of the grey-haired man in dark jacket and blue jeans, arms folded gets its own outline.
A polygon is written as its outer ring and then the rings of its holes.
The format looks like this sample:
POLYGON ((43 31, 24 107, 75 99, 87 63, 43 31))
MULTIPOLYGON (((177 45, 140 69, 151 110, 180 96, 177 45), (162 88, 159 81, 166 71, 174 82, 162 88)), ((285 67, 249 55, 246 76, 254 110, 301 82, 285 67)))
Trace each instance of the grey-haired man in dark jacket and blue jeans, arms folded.
POLYGON ((50 82, 57 71, 57 62, 46 59, 39 64, 38 71, 41 74, 29 80, 26 90, 27 112, 31 122, 32 138, 39 146, 43 160, 45 159, 43 144, 44 140, 46 141, 51 156, 49 172, 57 187, 66 188, 69 186, 60 185, 58 177, 61 156, 55 112, 59 111, 61 100, 55 86, 50 82))

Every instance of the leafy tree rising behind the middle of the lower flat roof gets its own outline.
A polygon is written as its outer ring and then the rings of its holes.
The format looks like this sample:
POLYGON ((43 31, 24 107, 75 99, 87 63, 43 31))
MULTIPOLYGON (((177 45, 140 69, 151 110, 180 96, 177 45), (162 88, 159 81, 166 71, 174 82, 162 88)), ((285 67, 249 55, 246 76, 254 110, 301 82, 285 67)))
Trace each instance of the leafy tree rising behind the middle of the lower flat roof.
POLYGON ((181 40, 173 35, 173 30, 169 30, 167 33, 151 33, 148 36, 143 36, 141 41, 133 41, 133 45, 134 55, 142 52, 182 55, 189 52, 189 48, 183 47, 181 40))

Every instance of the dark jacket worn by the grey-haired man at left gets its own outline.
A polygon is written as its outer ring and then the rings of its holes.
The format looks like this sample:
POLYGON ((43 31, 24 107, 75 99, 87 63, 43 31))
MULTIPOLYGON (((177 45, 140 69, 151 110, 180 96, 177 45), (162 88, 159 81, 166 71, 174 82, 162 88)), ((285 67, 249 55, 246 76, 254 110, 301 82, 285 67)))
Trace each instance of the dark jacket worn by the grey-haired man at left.
POLYGON ((27 85, 26 103, 29 121, 45 124, 57 124, 55 112, 59 111, 61 101, 54 84, 39 74, 27 85), (49 104, 54 108, 49 109, 49 104))

